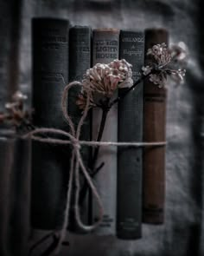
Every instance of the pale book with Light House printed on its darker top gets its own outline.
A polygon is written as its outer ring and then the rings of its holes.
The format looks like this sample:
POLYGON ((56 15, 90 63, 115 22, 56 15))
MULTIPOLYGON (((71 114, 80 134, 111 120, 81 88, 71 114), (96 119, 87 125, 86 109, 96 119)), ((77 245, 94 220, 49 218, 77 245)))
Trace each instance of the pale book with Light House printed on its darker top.
MULTIPOLYGON (((96 63, 109 63, 118 59, 119 30, 102 29, 93 30, 92 38, 92 66, 96 63)), ((99 133, 101 109, 92 109, 92 141, 96 141, 99 133)), ((105 122, 102 141, 118 141, 118 106, 109 111, 105 122)), ((116 233, 116 193, 117 193, 117 148, 100 147, 97 167, 104 162, 105 165, 95 176, 95 184, 99 191, 103 206, 104 219, 96 229, 97 234, 116 233)), ((99 219, 98 205, 92 202, 92 218, 99 219)))

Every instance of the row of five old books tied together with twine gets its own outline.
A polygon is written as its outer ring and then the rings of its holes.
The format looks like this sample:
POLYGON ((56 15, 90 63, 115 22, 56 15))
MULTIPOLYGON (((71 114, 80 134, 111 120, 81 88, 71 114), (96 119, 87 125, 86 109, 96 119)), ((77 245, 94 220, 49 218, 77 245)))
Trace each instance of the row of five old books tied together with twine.
MULTIPOLYGON (((33 108, 35 127, 68 130, 61 111, 61 95, 67 82, 81 81, 86 69, 96 63, 125 59, 132 64, 134 82, 141 75, 145 52, 156 43, 167 43, 166 30, 91 30, 71 27, 67 20, 34 18, 32 21, 33 108)), ((146 58, 146 61, 148 59, 146 58)), ((123 95, 126 89, 119 89, 123 95)), ((76 105, 80 87, 68 95, 68 114, 75 125, 81 116, 76 105)), ((114 106, 105 123, 102 141, 164 141, 165 89, 146 79, 114 106)), ((100 109, 86 118, 81 140, 94 141, 99 131, 100 109)), ((85 163, 91 148, 83 147, 85 163)), ((141 237, 142 222, 163 223, 164 148, 101 147, 93 178, 105 214, 97 234, 117 234, 121 239, 141 237)), ((41 229, 61 228, 67 199, 71 148, 33 142, 32 225, 41 229)), ((81 181, 83 182, 83 181, 81 181)), ((83 184, 82 184, 83 187, 83 184)), ((90 194, 84 194, 81 216, 85 223, 99 219, 90 194)), ((71 214, 70 229, 77 232, 71 214)))

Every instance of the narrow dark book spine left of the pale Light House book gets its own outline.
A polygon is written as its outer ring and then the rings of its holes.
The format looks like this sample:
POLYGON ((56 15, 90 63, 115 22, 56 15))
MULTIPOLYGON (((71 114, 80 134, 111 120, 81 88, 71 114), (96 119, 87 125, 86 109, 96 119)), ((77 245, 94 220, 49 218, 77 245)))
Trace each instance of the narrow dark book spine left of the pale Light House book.
MULTIPOLYGON (((90 27, 74 26, 69 30, 69 82, 79 81, 83 79, 86 74, 86 69, 91 67, 91 33, 90 27)), ((77 98, 80 94, 81 87, 74 86, 69 91, 68 95, 68 114, 72 117, 75 128, 80 122, 81 109, 76 105, 77 98)), ((81 128, 80 140, 91 140, 91 115, 88 113, 86 121, 81 128)), ((87 167, 90 157, 90 147, 82 147, 81 154, 83 161, 87 167)), ((83 178, 83 177, 82 177, 83 178)), ((81 179, 80 187, 84 186, 84 180, 81 179)), ((87 194, 80 207, 81 220, 87 224, 88 221, 88 202, 87 194)), ((71 215, 72 218, 72 215, 71 215)), ((70 230, 78 231, 78 227, 74 226, 74 221, 70 221, 70 230)), ((80 232, 80 230, 79 230, 80 232)))

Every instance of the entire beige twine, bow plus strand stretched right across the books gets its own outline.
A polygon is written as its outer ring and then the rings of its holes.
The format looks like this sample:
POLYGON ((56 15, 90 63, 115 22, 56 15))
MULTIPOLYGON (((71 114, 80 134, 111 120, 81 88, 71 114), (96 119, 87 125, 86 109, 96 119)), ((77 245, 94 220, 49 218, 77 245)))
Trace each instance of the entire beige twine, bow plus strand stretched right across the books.
POLYGON ((72 118, 67 113, 67 98, 68 98, 68 91, 71 89, 74 85, 80 85, 80 82, 74 81, 67 84, 65 87, 63 94, 62 94, 62 100, 61 100, 61 109, 64 115, 65 120, 68 123, 68 126, 70 128, 70 133, 57 129, 57 128, 35 128, 35 130, 29 132, 27 135, 24 135, 24 137, 31 137, 31 139, 35 141, 41 141, 41 142, 47 142, 51 144, 64 144, 64 145, 72 145, 73 151, 72 151, 72 157, 70 161, 70 169, 69 169, 69 180, 68 180, 68 187, 67 187, 67 203, 65 207, 65 213, 64 213, 64 220, 61 227, 61 233, 60 233, 60 240, 58 242, 58 246, 55 250, 55 253, 59 253, 61 249, 61 243, 65 238, 68 221, 69 221, 69 212, 71 207, 71 195, 73 194, 73 182, 75 183, 76 189, 74 189, 74 214, 75 214, 75 220, 77 225, 85 231, 92 231, 95 229, 101 221, 103 220, 104 215, 104 209, 102 200, 100 199, 99 193, 97 191, 97 188, 94 186, 92 182, 92 178, 90 174, 88 173, 81 154, 80 154, 80 148, 81 145, 86 145, 90 147, 96 147, 96 146, 117 146, 117 147, 159 147, 159 146, 165 146, 166 141, 158 141, 158 142, 112 142, 112 141, 80 141, 80 132, 81 127, 86 119, 86 115, 89 110, 89 103, 90 103, 90 95, 87 94, 87 100, 86 100, 86 107, 81 115, 80 122, 77 126, 77 128, 74 128, 72 118), (43 138, 41 136, 37 135, 45 135, 45 134, 53 134, 53 135, 63 135, 64 137, 67 137, 67 140, 58 139, 58 138, 43 138), (85 176, 85 179, 88 183, 88 186, 91 188, 93 196, 96 198, 96 201, 99 206, 99 220, 95 223, 93 223, 90 226, 86 226, 80 219, 80 206, 79 206, 79 199, 80 199, 80 171, 85 176), (73 177, 75 179, 73 179, 73 177))

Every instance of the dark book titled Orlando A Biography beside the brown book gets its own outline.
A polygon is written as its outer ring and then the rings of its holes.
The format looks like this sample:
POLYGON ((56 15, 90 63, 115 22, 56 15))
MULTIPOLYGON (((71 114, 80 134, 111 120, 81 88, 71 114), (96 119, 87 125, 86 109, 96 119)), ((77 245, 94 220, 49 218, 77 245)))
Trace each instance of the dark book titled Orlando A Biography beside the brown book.
MULTIPOLYGON (((144 35, 140 31, 120 32, 120 59, 132 65, 132 78, 141 75, 144 35)), ((127 88, 119 89, 123 96, 127 88)), ((118 103, 118 141, 143 140, 143 82, 118 103)), ((124 240, 141 237, 142 222, 142 148, 118 148, 117 235, 124 240)))

